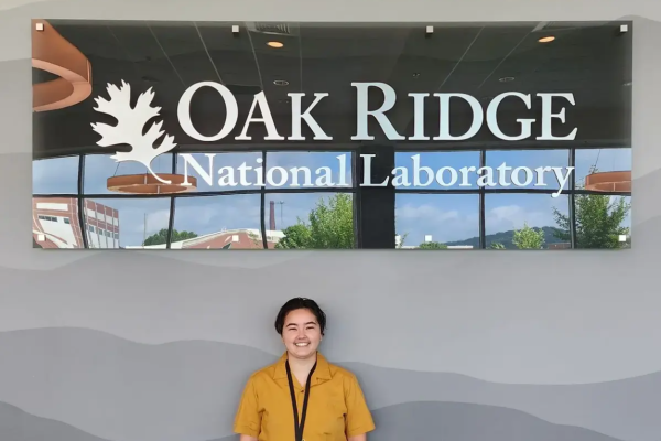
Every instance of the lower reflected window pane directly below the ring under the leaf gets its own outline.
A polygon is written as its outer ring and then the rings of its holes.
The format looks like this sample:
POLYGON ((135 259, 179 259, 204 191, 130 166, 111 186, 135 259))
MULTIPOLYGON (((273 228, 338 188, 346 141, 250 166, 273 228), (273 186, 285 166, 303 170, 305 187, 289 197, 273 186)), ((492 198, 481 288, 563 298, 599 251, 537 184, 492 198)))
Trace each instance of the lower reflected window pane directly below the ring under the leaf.
POLYGON ((170 198, 85 201, 89 248, 165 248, 170 198))

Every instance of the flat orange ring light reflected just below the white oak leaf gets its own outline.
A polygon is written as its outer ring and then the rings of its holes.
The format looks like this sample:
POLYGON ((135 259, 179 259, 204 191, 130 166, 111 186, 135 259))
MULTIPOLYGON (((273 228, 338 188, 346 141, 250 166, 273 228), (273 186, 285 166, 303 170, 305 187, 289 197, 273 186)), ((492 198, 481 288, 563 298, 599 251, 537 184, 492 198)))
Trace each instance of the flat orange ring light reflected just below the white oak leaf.
POLYGON ((162 180, 170 181, 164 184, 149 173, 124 174, 108 178, 106 185, 109 191, 128 194, 173 194, 186 193, 197 189, 197 179, 188 176, 191 185, 184 185, 186 176, 183 174, 159 174, 162 180))

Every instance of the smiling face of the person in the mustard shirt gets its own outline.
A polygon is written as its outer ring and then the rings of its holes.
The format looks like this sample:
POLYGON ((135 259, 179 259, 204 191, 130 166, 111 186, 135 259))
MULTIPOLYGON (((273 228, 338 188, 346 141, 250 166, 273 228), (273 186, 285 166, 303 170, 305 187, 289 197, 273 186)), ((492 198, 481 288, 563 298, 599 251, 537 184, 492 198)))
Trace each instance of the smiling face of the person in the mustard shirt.
POLYGON ((322 332, 314 314, 306 309, 294 310, 284 318, 282 341, 290 355, 307 358, 314 355, 322 341, 322 332))

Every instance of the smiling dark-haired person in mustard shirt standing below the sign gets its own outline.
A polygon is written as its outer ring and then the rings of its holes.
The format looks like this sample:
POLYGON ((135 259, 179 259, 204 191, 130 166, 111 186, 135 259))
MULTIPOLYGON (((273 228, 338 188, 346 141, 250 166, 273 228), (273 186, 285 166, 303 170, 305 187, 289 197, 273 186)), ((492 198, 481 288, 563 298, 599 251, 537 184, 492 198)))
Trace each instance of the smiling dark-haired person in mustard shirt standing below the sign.
POLYGON ((375 429, 356 376, 318 352, 325 327, 314 300, 281 308, 275 331, 286 351, 250 376, 235 418, 239 441, 365 441, 375 429))

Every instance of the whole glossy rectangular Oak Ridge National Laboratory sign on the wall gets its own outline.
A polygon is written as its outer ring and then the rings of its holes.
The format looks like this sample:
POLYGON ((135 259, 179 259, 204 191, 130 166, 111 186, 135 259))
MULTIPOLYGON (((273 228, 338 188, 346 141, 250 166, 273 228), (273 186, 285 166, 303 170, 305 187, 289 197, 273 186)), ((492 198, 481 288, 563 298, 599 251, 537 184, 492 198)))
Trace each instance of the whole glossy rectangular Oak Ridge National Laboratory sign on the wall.
POLYGON ((630 22, 31 25, 34 247, 631 246, 630 22))

